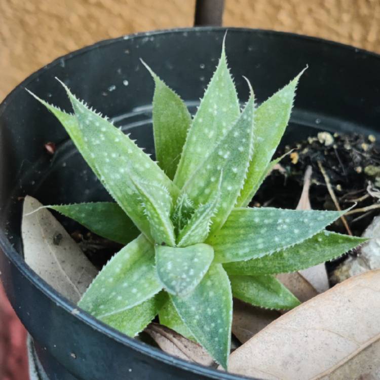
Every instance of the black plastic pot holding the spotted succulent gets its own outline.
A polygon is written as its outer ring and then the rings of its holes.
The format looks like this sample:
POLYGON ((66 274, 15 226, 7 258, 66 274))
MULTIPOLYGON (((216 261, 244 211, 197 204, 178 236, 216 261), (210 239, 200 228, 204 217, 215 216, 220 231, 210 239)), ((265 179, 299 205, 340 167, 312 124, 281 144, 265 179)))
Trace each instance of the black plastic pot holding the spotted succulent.
MULTIPOLYGON (((160 31, 103 41, 68 54, 32 74, 0 106, 1 279, 34 339, 51 379, 237 379, 173 358, 107 327, 74 307, 22 259, 22 201, 44 204, 108 199, 56 119, 27 92, 69 110, 63 80, 80 98, 115 118, 153 153, 153 82, 142 57, 194 110, 220 54, 225 29, 160 31), (49 156, 44 144, 58 149, 49 156)), ((289 82, 306 64, 284 142, 317 130, 380 134, 380 57, 294 34, 230 29, 226 51, 241 99, 246 75, 258 101, 289 82)), ((70 230, 73 225, 66 224, 70 230)))

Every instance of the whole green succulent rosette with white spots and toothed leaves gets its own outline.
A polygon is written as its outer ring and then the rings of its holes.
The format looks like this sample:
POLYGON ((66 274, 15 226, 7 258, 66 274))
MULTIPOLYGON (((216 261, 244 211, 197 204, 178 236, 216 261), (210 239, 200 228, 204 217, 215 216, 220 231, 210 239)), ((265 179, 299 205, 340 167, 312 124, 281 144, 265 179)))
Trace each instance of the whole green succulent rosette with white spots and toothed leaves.
POLYGON ((39 99, 61 122, 116 203, 50 207, 125 246, 103 267, 79 306, 135 336, 157 315, 227 368, 233 296, 269 309, 298 299, 274 276, 311 267, 364 240, 325 231, 340 211, 248 204, 290 118, 299 73, 260 106, 240 104, 224 42, 194 118, 145 63, 155 82, 157 162, 129 135, 78 100, 74 113, 39 99))

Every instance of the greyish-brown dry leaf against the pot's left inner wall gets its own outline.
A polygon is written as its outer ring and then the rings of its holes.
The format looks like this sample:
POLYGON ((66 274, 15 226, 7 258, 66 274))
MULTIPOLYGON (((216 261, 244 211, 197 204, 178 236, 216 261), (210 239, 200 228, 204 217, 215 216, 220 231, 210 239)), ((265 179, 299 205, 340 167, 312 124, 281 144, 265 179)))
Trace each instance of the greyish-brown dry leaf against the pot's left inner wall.
POLYGON ((50 211, 35 211, 39 207, 39 201, 25 197, 21 223, 25 261, 55 290, 77 303, 98 271, 50 211))

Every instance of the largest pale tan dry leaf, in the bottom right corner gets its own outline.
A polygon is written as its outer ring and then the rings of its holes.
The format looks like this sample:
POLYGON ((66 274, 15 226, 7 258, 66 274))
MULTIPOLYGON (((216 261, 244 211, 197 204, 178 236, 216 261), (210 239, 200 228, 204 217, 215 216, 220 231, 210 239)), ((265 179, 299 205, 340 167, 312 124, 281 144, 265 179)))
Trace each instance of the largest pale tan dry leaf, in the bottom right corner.
POLYGON ((231 354, 229 371, 268 380, 380 378, 380 270, 291 310, 231 354))

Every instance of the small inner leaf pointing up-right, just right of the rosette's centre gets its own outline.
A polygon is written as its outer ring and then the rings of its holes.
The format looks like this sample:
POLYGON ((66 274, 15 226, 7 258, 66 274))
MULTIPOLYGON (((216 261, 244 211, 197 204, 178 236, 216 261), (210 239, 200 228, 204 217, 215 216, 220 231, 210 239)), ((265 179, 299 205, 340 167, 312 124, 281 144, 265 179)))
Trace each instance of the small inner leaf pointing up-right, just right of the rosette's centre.
POLYGON ((189 245, 202 243, 206 240, 211 225, 211 218, 215 215, 220 201, 220 187, 221 187, 222 173, 220 173, 217 186, 211 187, 208 191, 211 191, 213 198, 205 205, 199 205, 188 220, 187 224, 178 233, 178 246, 186 247, 189 245))

